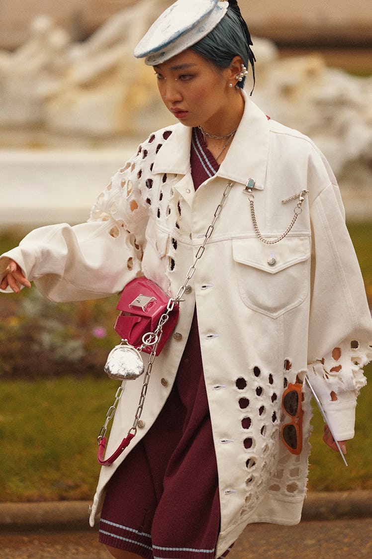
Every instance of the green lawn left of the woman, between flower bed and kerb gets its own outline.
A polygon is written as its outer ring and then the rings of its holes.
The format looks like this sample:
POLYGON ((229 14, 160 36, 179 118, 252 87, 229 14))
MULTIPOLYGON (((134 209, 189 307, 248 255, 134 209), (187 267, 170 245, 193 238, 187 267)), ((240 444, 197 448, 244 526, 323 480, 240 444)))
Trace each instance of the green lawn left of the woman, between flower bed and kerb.
POLYGON ((91 499, 96 438, 118 382, 76 376, 1 381, 1 501, 91 499))

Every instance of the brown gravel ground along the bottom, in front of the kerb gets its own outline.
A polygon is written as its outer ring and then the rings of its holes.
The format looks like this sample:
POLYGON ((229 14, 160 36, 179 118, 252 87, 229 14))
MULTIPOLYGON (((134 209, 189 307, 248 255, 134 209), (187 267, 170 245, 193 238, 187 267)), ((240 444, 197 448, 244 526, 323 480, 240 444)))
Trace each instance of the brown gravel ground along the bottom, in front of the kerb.
MULTIPOLYGON (((97 531, 0 533, 2 559, 109 559, 97 531)), ((338 559, 372 557, 372 519, 302 522, 295 527, 251 525, 229 559, 338 559)))

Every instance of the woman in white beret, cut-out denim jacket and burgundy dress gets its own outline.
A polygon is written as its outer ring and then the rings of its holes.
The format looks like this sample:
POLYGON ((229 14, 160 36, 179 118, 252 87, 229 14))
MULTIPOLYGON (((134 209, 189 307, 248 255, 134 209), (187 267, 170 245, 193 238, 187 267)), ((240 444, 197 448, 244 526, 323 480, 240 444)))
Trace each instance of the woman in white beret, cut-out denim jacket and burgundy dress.
MULTIPOLYGON (((224 200, 138 433, 101 470, 91 524, 101 511, 100 541, 117 558, 212 559, 248 523, 298 523, 310 396, 304 383, 302 409, 285 411, 282 396, 301 394, 305 374, 343 452, 354 435, 372 339, 359 267, 323 155, 242 89, 251 44, 236 2, 173 4, 135 55, 181 124, 139 146, 86 224, 33 231, 0 260, 3 290, 34 280, 53 300, 92 299, 144 274, 174 297, 224 200)), ((107 456, 141 390, 126 383, 107 456)), ((328 429, 324 441, 336 448, 328 429)))

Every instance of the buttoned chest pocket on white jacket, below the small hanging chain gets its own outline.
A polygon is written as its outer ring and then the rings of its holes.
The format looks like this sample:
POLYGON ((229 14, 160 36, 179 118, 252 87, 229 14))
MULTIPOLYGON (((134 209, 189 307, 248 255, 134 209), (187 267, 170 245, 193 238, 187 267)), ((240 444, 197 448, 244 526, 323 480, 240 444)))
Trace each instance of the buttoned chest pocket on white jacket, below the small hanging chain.
POLYGON ((239 293, 245 305, 277 318, 304 301, 309 288, 310 238, 285 237, 267 245, 233 239, 239 293))

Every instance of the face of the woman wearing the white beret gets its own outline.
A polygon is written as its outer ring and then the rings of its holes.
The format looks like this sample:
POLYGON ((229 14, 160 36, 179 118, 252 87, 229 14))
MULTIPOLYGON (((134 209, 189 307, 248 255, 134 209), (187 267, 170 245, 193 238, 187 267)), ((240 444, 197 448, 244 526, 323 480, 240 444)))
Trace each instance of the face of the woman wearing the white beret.
MULTIPOLYGON (((191 49, 154 66, 162 100, 185 126, 218 130, 231 111, 231 70, 215 67, 191 49)), ((235 89, 235 88, 233 88, 235 89)))

